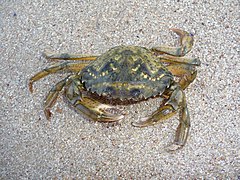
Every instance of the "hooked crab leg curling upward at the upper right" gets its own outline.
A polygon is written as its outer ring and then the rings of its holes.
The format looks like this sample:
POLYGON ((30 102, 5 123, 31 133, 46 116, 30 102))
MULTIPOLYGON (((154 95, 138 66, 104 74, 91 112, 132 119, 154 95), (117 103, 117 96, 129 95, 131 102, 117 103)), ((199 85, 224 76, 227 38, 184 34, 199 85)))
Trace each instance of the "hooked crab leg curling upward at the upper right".
POLYGON ((187 54, 193 46, 193 35, 186 31, 172 28, 170 29, 180 36, 180 46, 179 47, 168 47, 160 46, 153 47, 152 50, 160 54, 170 54, 173 56, 184 56, 187 54))

